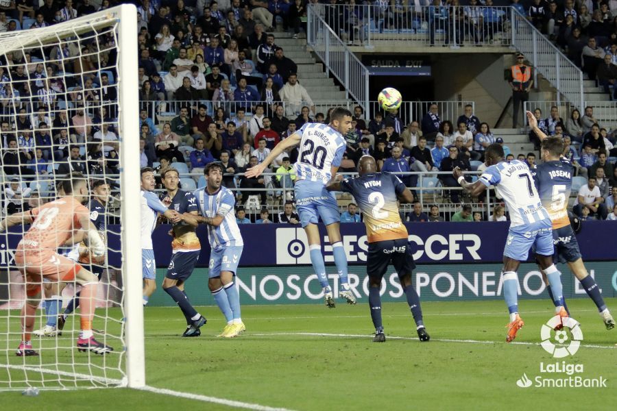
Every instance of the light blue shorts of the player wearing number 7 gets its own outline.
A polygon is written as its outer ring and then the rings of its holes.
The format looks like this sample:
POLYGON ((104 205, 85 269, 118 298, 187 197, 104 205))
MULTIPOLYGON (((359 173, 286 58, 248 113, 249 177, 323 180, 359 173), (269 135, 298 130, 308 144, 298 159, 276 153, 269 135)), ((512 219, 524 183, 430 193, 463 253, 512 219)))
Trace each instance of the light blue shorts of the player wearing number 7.
POLYGON ((532 247, 540 256, 553 256, 551 220, 510 227, 503 255, 513 260, 527 261, 532 247))

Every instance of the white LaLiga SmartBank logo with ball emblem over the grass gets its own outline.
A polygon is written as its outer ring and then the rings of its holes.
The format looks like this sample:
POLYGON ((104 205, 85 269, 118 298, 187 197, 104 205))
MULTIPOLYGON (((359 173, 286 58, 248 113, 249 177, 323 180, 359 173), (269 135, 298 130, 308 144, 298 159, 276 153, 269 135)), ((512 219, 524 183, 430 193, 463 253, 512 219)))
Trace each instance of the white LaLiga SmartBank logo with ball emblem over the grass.
MULTIPOLYGON (((540 329, 542 343, 540 346, 553 358, 565 358, 574 356, 583 341, 583 331, 575 319, 566 317, 561 319, 559 315, 548 320, 540 329), (558 327, 562 325, 562 327, 558 327), (555 328, 559 329, 555 329, 555 328), (553 332, 555 335, 553 336, 553 332)), ((585 366, 583 364, 568 364, 561 362, 540 362, 540 375, 532 376, 527 373, 517 380, 516 385, 520 388, 606 388, 604 377, 583 377, 585 366)))

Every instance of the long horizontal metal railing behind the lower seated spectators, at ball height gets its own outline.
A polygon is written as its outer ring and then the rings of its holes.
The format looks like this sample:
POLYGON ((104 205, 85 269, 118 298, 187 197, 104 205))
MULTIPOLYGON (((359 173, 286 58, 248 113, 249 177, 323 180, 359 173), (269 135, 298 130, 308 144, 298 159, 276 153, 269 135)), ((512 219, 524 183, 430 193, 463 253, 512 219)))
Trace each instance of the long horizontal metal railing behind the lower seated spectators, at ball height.
MULTIPOLYGON (((189 107, 193 110, 193 112, 189 112, 189 116, 195 115, 197 112, 197 105, 205 104, 208 110, 208 115, 213 116, 214 112, 219 107, 217 101, 147 101, 143 102, 143 108, 148 111, 148 116, 154 123, 161 123, 164 121, 171 121, 171 118, 180 114, 180 108, 189 107)), ((226 110, 226 115, 229 119, 232 119, 232 116, 235 114, 237 108, 243 107, 244 102, 242 101, 227 101, 223 103, 223 109, 226 110)), ((267 103, 267 101, 252 101, 250 105, 254 106, 256 104, 262 104, 267 106, 267 108, 272 111, 271 103, 267 103)), ((287 109, 287 103, 278 102, 275 104, 282 104, 283 107, 287 109)), ((403 101, 398 109, 398 116, 402 123, 402 126, 407 126, 411 121, 420 121, 422 120, 422 116, 428 112, 428 108, 431 107, 432 104, 437 104, 437 114, 439 114, 439 119, 441 121, 449 120, 452 122, 456 129, 456 121, 458 117, 463 114, 463 110, 465 105, 472 105, 475 109, 474 101, 403 101)), ((306 102, 300 103, 300 108, 304 105, 310 108, 310 105, 306 102)), ((328 109, 331 107, 344 107, 354 111, 354 107, 357 105, 354 101, 330 101, 330 100, 319 100, 313 101, 313 105, 315 105, 315 112, 326 114, 328 109)), ((244 107, 243 107, 244 108, 244 107)), ((364 116, 366 124, 368 125, 371 119, 374 119, 375 113, 381 112, 383 114, 383 109, 380 108, 378 101, 367 101, 366 108, 364 109, 364 116)), ((250 111, 245 113, 247 119, 250 119, 252 116, 250 111)), ((315 113, 310 114, 311 118, 315 118, 315 113)), ((288 116, 290 121, 293 121, 295 117, 288 116)))

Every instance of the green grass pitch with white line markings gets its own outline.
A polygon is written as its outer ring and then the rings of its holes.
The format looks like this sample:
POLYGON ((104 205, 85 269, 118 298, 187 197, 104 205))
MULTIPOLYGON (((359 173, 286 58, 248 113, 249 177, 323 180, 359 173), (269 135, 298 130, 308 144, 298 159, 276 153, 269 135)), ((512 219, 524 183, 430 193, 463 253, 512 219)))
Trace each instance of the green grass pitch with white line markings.
MULTIPOLYGON (((607 304, 617 307, 617 299, 607 299, 607 304)), ((516 339, 519 344, 505 343, 508 319, 503 301, 424 303, 424 321, 432 338, 428 343, 418 341, 406 303, 385 303, 389 338, 383 344, 372 343, 365 299, 357 306, 339 303, 334 310, 319 305, 245 306, 247 332, 229 340, 215 338, 224 323, 215 307, 199 308, 208 317, 199 338, 180 338, 184 318, 177 308, 147 307, 147 384, 291 410, 550 409, 559 403, 565 409, 614 410, 617 329, 605 330, 589 299, 570 299, 568 305, 572 317, 581 323, 584 340, 574 356, 559 360, 538 345, 540 328, 553 312, 548 300, 520 301, 526 325, 516 339), (523 374, 529 379, 541 375, 541 363, 561 364, 562 360, 583 364, 584 372, 574 375, 604 377, 607 388, 516 385, 523 374)), ((110 310, 110 315, 119 316, 119 310, 110 310)), ((0 332, 6 326, 6 321, 0 322, 0 332)), ((12 351, 16 338, 0 341, 0 347, 10 349, 0 354, 2 364, 22 361, 12 351)), ((62 336, 58 343, 69 347, 73 338, 62 336)), ((55 341, 34 341, 40 344, 51 347, 55 341)), ((83 354, 66 348, 58 358, 62 362, 78 355, 83 354)), ((27 358, 26 362, 31 360, 38 361, 27 358)), ((102 361, 95 358, 93 364, 102 361)), ((7 372, 15 378, 20 371, 0 367, 1 381, 7 379, 7 372)), ((31 374, 32 379, 41 378, 40 373, 31 374)), ((542 376, 568 377, 565 373, 542 376)), ((124 388, 43 390, 38 397, 6 391, 0 392, 0 401, 3 410, 230 409, 124 388)))

